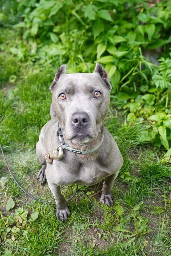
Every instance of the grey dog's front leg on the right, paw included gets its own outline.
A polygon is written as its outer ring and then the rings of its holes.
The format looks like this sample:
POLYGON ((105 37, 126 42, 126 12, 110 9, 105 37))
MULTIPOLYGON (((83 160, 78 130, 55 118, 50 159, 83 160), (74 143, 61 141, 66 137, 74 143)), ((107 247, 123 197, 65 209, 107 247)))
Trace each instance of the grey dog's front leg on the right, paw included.
POLYGON ((105 182, 103 183, 102 195, 100 198, 100 202, 108 205, 109 207, 113 204, 113 196, 112 196, 111 190, 112 190, 113 183, 114 183, 118 173, 119 172, 116 172, 116 173, 108 176, 105 179, 105 182))

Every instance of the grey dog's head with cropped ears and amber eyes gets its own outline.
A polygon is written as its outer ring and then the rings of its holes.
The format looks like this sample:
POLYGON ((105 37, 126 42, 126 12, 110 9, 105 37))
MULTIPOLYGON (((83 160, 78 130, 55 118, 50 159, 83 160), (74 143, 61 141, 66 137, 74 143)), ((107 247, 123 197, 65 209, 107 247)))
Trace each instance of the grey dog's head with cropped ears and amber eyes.
POLYGON ((66 74, 66 65, 62 65, 50 90, 54 112, 67 141, 87 143, 100 135, 111 91, 107 73, 100 64, 96 64, 92 74, 66 74))

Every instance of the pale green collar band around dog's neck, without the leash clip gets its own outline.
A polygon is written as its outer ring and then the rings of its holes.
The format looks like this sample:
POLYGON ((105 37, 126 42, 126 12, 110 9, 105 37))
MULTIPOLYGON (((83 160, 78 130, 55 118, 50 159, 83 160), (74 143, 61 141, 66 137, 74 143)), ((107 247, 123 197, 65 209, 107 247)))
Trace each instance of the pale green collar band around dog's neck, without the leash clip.
POLYGON ((63 137, 63 133, 62 133, 62 130, 60 128, 60 124, 59 123, 58 123, 57 135, 58 135, 58 138, 59 138, 59 140, 60 140, 60 142, 62 144, 61 146, 62 146, 63 149, 72 151, 73 153, 76 153, 76 154, 79 154, 79 155, 86 155, 86 154, 90 154, 90 153, 96 151, 100 147, 100 145, 102 144, 103 138, 104 138, 104 136, 103 136, 101 142, 95 148, 90 149, 90 150, 86 150, 86 151, 81 151, 81 150, 69 147, 69 145, 65 142, 64 137, 63 137))

